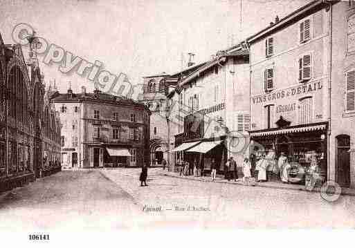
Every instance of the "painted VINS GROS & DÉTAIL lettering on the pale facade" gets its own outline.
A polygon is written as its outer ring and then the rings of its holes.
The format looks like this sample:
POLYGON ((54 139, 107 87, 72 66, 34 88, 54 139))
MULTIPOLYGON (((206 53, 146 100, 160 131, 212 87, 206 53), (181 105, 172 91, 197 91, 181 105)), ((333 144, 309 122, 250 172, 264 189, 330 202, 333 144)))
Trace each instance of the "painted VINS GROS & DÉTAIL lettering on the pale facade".
POLYGON ((274 93, 268 93, 253 97, 253 104, 260 104, 276 99, 286 99, 293 95, 300 95, 310 93, 322 89, 322 82, 315 82, 310 84, 302 84, 301 86, 295 86, 293 88, 287 88, 285 90, 277 90, 274 93))

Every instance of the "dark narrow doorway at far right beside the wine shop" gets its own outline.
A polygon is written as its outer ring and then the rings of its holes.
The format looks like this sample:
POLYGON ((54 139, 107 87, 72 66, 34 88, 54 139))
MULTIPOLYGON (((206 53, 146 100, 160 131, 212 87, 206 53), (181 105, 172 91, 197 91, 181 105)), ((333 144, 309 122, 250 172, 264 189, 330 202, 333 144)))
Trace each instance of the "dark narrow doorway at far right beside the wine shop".
POLYGON ((340 187, 350 186, 350 136, 336 136, 336 182, 340 187))

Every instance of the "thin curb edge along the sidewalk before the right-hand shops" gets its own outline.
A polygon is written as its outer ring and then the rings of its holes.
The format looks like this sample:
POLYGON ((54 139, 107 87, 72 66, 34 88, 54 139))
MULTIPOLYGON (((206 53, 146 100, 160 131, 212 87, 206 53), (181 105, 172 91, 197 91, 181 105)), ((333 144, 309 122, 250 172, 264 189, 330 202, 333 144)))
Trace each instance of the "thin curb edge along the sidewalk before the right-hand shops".
MULTIPOLYGON (((170 178, 180 178, 183 180, 192 180, 192 181, 199 181, 199 182, 212 182, 210 180, 205 180, 205 179, 195 179, 195 178, 183 178, 179 175, 169 175, 167 173, 161 173, 161 175, 165 175, 170 178)), ((242 182, 228 182, 228 181, 215 181, 214 183, 220 183, 220 184, 233 184, 233 185, 240 185, 240 186, 246 186, 242 182)), ((293 190, 293 191, 304 191, 304 192, 309 192, 309 193, 320 193, 320 188, 316 188, 312 191, 308 191, 306 189, 295 189, 291 187, 278 187, 278 186, 273 186, 273 185, 267 185, 267 184, 260 184, 256 183, 254 186, 248 186, 248 187, 260 187, 260 188, 269 188, 269 189, 284 189, 284 190, 293 190)), ((347 193, 347 192, 341 192, 340 195, 348 195, 348 196, 355 196, 355 193, 347 193)))

